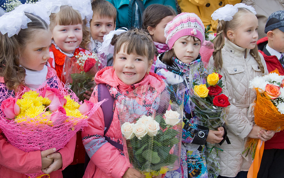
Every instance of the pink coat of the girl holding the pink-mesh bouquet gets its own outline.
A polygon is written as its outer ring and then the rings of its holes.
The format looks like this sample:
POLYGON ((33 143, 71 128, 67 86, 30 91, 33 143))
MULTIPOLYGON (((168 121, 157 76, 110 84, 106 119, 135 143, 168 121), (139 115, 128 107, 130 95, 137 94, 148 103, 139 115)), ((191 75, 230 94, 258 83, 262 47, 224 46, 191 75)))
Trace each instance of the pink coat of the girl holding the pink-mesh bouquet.
MULTIPOLYGON (((56 71, 48 67, 46 78, 57 76, 56 71), (52 72, 53 73, 52 73, 52 72)), ((0 82, 4 83, 3 77, 0 82)), ((26 87, 26 86, 25 86, 26 87)), ((51 178, 62 178, 61 171, 72 161, 75 150, 76 135, 58 152, 62 156, 63 166, 52 172, 51 178)), ((42 162, 40 151, 24 152, 7 142, 4 133, 0 129, 0 177, 1 178, 27 178, 25 174, 41 172, 42 162), (22 173, 22 174, 21 174, 22 173)), ((42 178, 47 178, 43 176, 42 178)))

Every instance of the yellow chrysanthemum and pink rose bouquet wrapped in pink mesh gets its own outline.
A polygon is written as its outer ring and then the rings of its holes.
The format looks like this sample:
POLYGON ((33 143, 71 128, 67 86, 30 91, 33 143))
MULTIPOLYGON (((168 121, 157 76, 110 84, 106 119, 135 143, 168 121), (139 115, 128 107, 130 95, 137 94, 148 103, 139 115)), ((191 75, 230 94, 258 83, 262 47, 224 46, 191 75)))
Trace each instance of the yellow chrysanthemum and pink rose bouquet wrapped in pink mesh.
POLYGON ((56 77, 37 91, 24 88, 15 92, 0 84, 0 101, 0 128, 10 144, 25 152, 63 148, 104 102, 78 102, 74 92, 56 77))

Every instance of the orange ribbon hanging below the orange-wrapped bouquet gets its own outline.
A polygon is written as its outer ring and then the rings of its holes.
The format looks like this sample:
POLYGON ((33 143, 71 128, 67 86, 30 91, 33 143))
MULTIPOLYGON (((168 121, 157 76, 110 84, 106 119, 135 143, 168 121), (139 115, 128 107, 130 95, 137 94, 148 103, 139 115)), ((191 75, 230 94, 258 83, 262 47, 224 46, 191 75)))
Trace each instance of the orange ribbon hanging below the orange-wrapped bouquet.
POLYGON ((261 158, 263 155, 263 150, 264 150, 264 142, 261 140, 258 140, 256 151, 255 151, 255 156, 254 156, 254 161, 251 164, 250 169, 248 170, 248 178, 256 178, 257 173, 259 171, 260 163, 261 163, 261 158))

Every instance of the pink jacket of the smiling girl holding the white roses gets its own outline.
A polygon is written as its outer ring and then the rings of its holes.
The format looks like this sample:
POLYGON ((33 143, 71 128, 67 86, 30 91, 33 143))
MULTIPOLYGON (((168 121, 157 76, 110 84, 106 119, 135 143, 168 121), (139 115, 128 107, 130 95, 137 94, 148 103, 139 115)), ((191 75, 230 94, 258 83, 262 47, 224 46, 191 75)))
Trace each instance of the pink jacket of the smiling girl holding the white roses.
MULTIPOLYGON (((95 82, 106 83, 115 87, 123 95, 133 91, 133 86, 136 88, 141 85, 152 85, 155 88, 163 90, 164 82, 154 73, 146 74, 141 82, 131 85, 124 84, 119 80, 114 72, 113 67, 106 67, 97 72, 95 82)), ((94 89, 94 97, 90 98, 91 102, 96 103, 97 86, 94 89)), ((115 103, 117 101, 115 100, 115 103)), ((104 118, 103 111, 99 108, 94 115, 88 120, 88 127, 85 127, 82 132, 83 144, 88 155, 91 157, 85 175, 83 178, 120 178, 131 167, 129 160, 123 156, 123 152, 108 143, 104 135, 104 118)), ((112 124, 109 127, 106 136, 116 142, 122 142, 122 134, 120 131, 120 123, 118 119, 117 108, 114 109, 112 124)))

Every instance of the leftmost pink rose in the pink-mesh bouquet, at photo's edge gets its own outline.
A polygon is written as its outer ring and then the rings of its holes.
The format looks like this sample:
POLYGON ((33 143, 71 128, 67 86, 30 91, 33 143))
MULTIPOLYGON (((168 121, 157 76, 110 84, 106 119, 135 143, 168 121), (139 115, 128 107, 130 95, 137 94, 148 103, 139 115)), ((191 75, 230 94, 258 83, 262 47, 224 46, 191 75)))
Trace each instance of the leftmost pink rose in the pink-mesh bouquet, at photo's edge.
POLYGON ((16 115, 20 114, 20 107, 17 104, 16 98, 10 97, 2 101, 0 109, 8 119, 13 119, 16 115))

